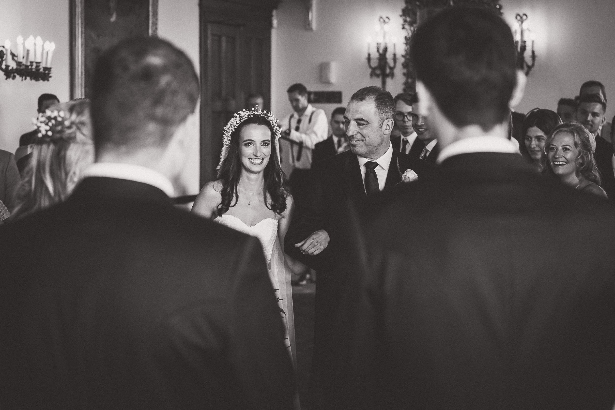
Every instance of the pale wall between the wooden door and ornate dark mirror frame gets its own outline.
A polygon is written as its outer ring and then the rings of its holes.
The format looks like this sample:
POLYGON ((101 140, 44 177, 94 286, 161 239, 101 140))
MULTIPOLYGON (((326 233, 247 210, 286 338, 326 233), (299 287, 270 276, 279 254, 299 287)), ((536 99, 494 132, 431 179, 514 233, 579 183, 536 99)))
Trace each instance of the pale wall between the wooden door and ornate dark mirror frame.
MULTIPOLYGON (((366 85, 381 85, 370 79, 367 67, 367 36, 375 37, 379 16, 391 18, 391 36, 397 37, 398 57, 403 52, 403 0, 316 0, 316 30, 306 31, 303 0, 284 0, 277 9, 277 29, 272 36, 271 108, 278 117, 291 111, 286 90, 302 82, 311 91, 341 91, 341 104, 318 104, 330 116, 338 105, 346 106, 351 95, 366 85), (320 63, 336 61, 336 84, 320 83, 320 63)), ((389 50, 389 56, 392 50, 389 50)), ((371 57, 375 55, 371 47, 371 57)), ((374 60, 372 60, 372 64, 374 60)), ((402 92, 401 58, 387 90, 402 92)))

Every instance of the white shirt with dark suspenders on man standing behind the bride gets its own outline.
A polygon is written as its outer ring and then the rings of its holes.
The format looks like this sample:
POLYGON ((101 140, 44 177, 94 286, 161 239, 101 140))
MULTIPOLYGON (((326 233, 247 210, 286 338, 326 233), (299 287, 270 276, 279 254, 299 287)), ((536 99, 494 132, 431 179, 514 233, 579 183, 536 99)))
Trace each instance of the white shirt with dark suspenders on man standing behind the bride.
POLYGON ((314 108, 312 104, 308 104, 308 108, 301 116, 299 131, 295 131, 299 118, 296 112, 292 112, 280 122, 283 131, 290 130, 288 138, 304 145, 301 160, 296 160, 299 150, 299 146, 296 144, 292 144, 292 152, 288 156, 284 154, 284 159, 292 162, 293 168, 309 170, 312 167, 312 149, 314 149, 315 144, 327 139, 329 123, 325 111, 314 108))

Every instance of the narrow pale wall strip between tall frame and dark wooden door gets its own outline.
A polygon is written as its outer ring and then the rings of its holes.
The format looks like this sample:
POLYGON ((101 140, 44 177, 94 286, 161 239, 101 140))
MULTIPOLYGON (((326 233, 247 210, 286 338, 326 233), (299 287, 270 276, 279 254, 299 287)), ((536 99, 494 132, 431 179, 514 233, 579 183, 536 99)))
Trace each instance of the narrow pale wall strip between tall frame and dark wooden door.
MULTIPOLYGON (((199 74, 199 1, 159 0, 158 36, 169 40, 188 57, 199 74)), ((190 154, 180 183, 176 184, 177 195, 199 192, 199 108, 197 118, 191 122, 190 154)))

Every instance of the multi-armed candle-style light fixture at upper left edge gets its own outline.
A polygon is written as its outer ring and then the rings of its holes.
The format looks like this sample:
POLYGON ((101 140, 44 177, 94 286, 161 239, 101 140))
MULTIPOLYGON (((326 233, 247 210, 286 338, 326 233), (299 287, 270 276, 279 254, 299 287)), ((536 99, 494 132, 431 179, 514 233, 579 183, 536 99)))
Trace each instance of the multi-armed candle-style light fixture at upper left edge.
POLYGON ((54 57, 55 43, 46 41, 40 36, 17 37, 17 54, 10 49, 10 41, 0 45, 0 71, 8 79, 20 77, 23 80, 49 81, 51 77, 51 62, 54 57), (25 53, 24 53, 25 47, 25 53))

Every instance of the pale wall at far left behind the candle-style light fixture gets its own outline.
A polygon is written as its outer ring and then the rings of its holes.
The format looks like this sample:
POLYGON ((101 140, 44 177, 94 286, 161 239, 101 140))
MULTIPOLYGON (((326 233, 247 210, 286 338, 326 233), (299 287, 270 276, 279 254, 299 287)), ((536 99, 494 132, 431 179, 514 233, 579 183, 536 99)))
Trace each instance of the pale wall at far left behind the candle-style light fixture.
POLYGON ((36 101, 42 93, 69 98, 68 0, 0 0, 0 42, 9 39, 17 52, 15 39, 22 34, 41 36, 55 42, 52 77, 49 82, 4 79, 0 73, 0 149, 15 152, 19 137, 34 129, 36 101))

